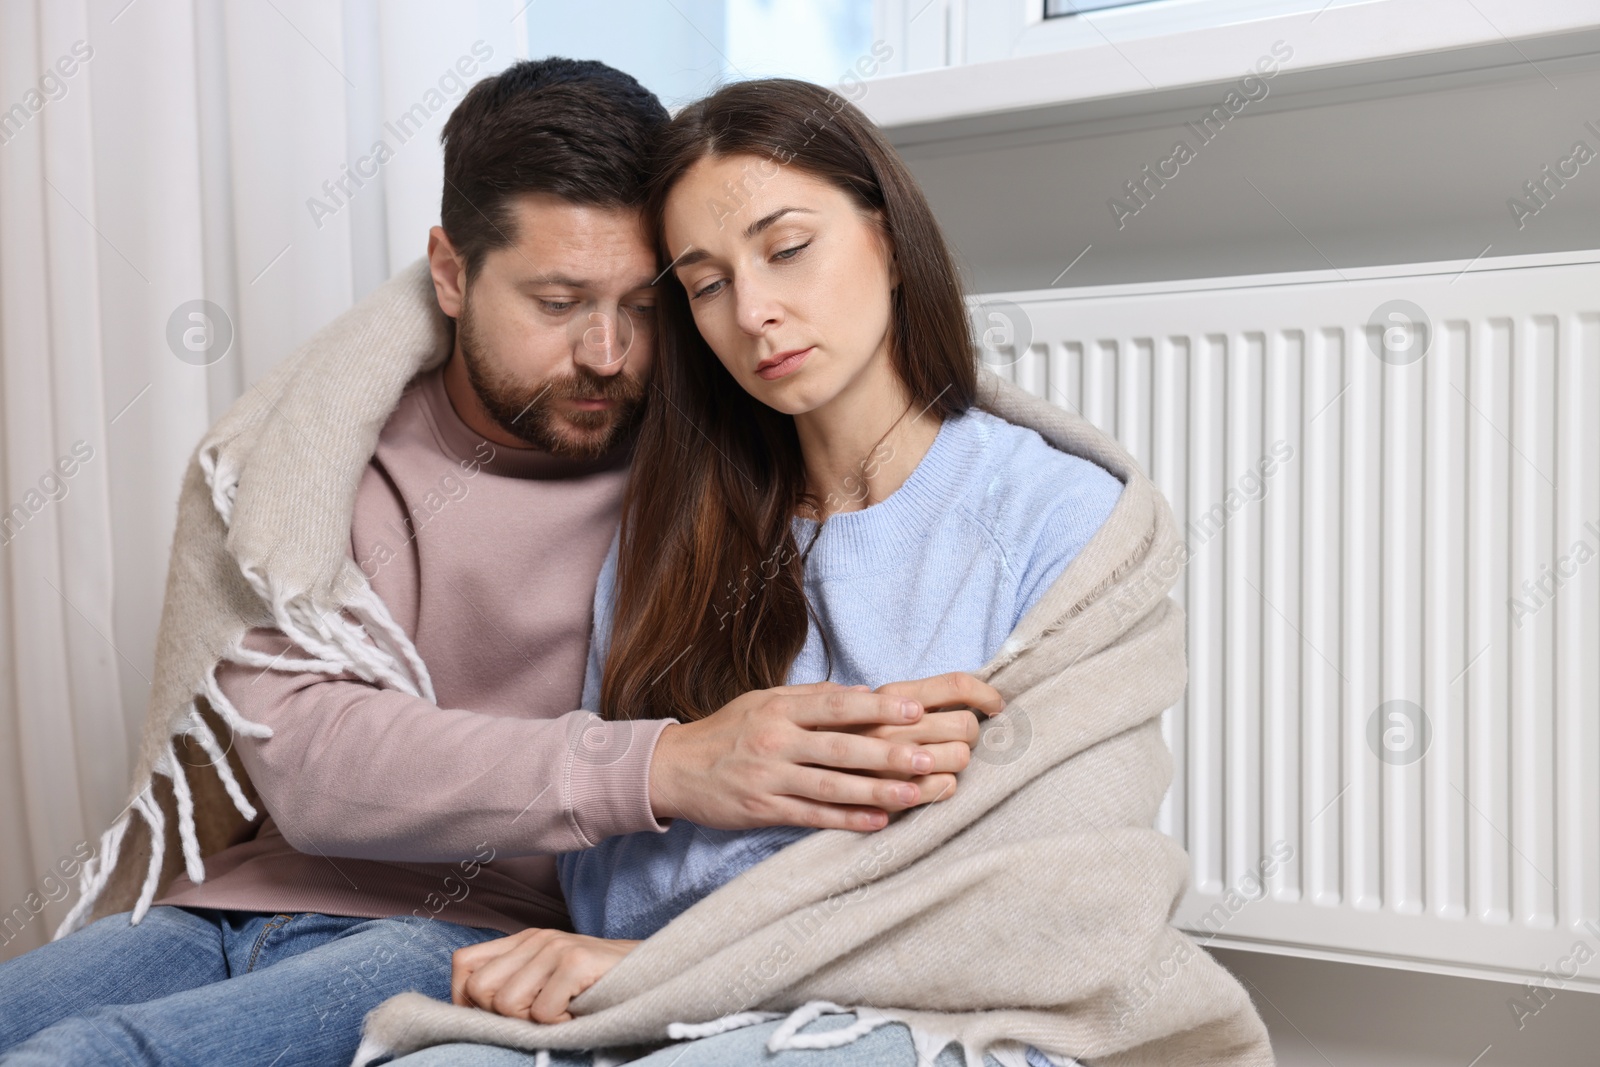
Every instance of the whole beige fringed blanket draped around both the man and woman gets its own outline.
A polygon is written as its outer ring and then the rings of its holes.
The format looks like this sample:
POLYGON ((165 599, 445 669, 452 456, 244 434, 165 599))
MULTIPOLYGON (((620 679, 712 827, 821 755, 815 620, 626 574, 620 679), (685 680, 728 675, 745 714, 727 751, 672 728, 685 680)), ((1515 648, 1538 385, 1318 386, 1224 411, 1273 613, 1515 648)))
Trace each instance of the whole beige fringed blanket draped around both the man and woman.
MULTIPOLYGON (((426 665, 350 560, 349 531, 379 430, 405 384, 445 358, 448 336, 418 262, 274 370, 197 448, 131 808, 102 837, 58 936, 90 913, 141 917, 179 862, 200 881, 205 856, 254 817, 226 731, 266 728, 214 681, 219 659, 259 659, 240 646, 248 627, 277 625, 314 657, 278 667, 354 670, 432 699, 426 665)), ((1093 1067, 1272 1062, 1243 989, 1168 925, 1189 867, 1152 829, 1171 776, 1160 713, 1186 675, 1182 614, 1166 598, 1182 560, 1170 509, 1082 418, 987 373, 982 394, 989 411, 1126 488, 982 669, 1008 707, 955 797, 877 833, 814 833, 752 867, 573 1001, 571 1022, 408 993, 368 1016, 358 1061, 461 1040, 659 1045, 774 1013, 795 1013, 794 1030, 842 1005, 859 1008, 853 1033, 909 1024, 926 1059, 957 1040, 970 1064, 986 1051, 1021 1062, 1024 1045, 1093 1067)))

